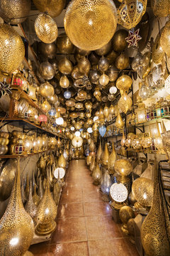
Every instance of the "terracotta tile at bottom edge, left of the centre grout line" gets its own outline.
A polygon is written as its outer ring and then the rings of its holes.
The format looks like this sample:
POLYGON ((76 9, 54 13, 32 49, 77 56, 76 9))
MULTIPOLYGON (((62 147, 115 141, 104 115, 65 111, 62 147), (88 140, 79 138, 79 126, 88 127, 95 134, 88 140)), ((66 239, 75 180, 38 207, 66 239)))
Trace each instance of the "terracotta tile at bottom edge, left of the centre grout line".
POLYGON ((49 252, 54 256, 89 256, 87 242, 66 242, 50 245, 49 252))

